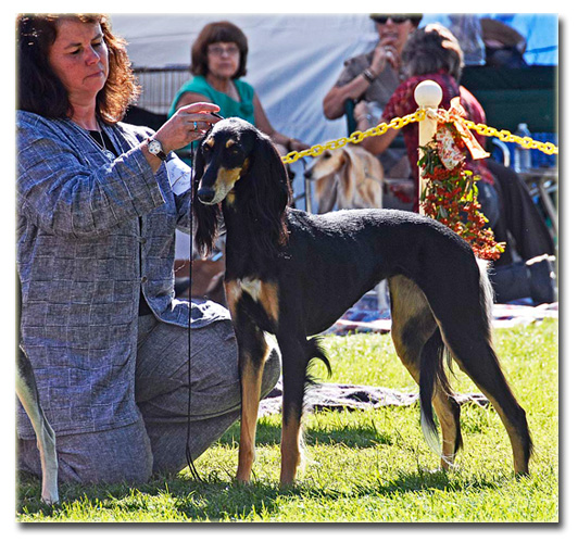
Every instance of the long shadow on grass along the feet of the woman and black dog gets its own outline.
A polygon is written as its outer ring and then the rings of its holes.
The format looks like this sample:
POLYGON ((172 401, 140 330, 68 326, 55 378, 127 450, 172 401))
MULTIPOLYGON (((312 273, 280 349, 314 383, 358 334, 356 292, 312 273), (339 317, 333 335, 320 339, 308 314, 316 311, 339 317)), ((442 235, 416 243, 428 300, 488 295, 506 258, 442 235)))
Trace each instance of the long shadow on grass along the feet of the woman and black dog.
MULTIPOLYGON (((177 475, 156 477, 150 482, 130 488, 126 484, 80 487, 62 484, 61 504, 47 506, 39 500, 39 483, 25 476, 21 481, 24 492, 18 500, 18 512, 24 514, 41 513, 43 517, 59 520, 67 518, 67 508, 76 502, 79 508, 104 513, 114 511, 122 518, 130 520, 131 512, 154 508, 154 500, 168 499, 173 516, 192 521, 215 520, 252 520, 273 517, 290 501, 319 500, 322 502, 364 496, 382 496, 400 493, 418 493, 429 491, 461 492, 463 490, 485 490, 499 487, 495 479, 485 480, 477 477, 451 479, 445 472, 413 471, 400 472, 390 480, 378 481, 368 486, 350 486, 348 491, 316 488, 312 482, 300 482, 292 489, 280 489, 276 483, 255 482, 240 486, 234 480, 225 481, 216 474, 210 474, 204 481, 192 481, 177 475), (211 478, 213 478, 211 480, 211 478)), ((41 520, 41 518, 40 518, 41 520)), ((90 518, 87 516, 87 521, 90 518)), ((120 519, 122 521, 122 519, 120 519)), ((151 517, 154 521, 154 517, 151 517)), ((162 520, 162 518, 160 519, 162 520)), ((174 521, 174 517, 172 518, 174 521)), ((83 519, 79 519, 83 521, 83 519)))

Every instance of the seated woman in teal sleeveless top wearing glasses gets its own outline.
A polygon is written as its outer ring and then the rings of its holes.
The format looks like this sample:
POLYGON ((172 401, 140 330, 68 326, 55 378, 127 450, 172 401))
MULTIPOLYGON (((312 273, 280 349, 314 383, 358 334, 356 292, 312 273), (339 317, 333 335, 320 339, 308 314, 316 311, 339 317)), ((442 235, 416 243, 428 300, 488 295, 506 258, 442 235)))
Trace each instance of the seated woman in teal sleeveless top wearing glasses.
POLYGON ((247 81, 247 37, 233 23, 210 23, 192 45, 191 73, 194 77, 177 92, 168 115, 194 102, 216 103, 221 115, 238 116, 267 134, 288 151, 302 151, 309 146, 279 134, 271 125, 257 93, 247 81))

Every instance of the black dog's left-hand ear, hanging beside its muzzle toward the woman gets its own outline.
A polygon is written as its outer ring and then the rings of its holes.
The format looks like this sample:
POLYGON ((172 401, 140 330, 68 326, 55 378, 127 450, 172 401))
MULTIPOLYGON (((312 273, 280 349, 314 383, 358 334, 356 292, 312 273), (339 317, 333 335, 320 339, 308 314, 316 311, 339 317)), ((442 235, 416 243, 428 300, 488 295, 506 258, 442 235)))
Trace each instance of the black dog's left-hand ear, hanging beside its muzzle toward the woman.
MULTIPOLYGON (((204 173, 204 156, 200 146, 194 152, 193 178, 191 187, 194 244, 201 257, 206 257, 215 247, 221 222, 221 205, 205 205, 197 198, 204 173)), ((191 231, 191 234, 192 234, 191 231)))

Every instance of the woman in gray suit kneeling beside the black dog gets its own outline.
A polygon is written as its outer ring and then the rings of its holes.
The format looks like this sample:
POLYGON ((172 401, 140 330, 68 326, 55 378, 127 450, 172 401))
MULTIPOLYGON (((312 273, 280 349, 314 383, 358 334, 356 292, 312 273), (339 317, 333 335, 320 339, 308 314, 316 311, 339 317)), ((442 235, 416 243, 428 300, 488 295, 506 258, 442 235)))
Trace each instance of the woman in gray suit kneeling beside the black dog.
MULTIPOLYGON (((175 228, 190 227, 172 153, 218 106, 181 108, 155 134, 121 123, 136 87, 104 15, 17 18, 21 346, 56 432, 59 477, 144 482, 177 472, 238 417, 229 314, 174 298, 175 228)), ((267 364, 264 392, 276 382, 267 364)), ((18 468, 40 475, 18 407, 18 468)))

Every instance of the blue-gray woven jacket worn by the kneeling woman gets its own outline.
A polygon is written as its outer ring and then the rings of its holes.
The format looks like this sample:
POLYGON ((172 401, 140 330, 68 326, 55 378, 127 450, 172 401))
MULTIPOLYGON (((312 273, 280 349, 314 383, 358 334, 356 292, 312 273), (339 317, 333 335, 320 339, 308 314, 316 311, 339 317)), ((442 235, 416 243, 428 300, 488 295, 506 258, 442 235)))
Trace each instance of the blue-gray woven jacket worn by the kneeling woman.
MULTIPOLYGON (((106 126, 113 161, 71 121, 18 111, 16 128, 22 343, 40 400, 60 434, 131 424, 140 292, 159 319, 188 326, 173 265, 190 190, 176 196, 165 165, 153 174, 136 148, 148 128, 106 126)), ((228 318, 196 304, 191 326, 228 318)), ((17 427, 34 438, 20 405, 17 427)))

